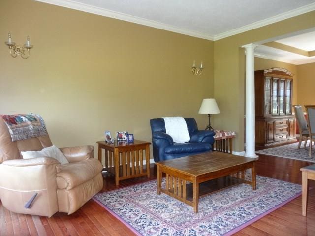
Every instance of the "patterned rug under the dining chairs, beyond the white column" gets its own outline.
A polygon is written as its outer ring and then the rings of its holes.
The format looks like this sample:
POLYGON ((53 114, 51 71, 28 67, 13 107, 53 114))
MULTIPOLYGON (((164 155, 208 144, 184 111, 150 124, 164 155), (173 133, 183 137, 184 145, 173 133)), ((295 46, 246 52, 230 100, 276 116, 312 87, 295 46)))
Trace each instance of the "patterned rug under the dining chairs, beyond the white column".
POLYGON ((304 142, 301 144, 301 148, 297 149, 299 143, 287 144, 283 146, 278 146, 275 148, 268 148, 260 151, 256 151, 256 154, 263 154, 269 156, 279 156, 289 159, 301 160, 301 161, 309 161, 315 163, 315 147, 312 147, 311 157, 309 156, 309 145, 310 141, 308 141, 306 148, 304 148, 304 142), (314 149, 314 150, 313 150, 314 149))

